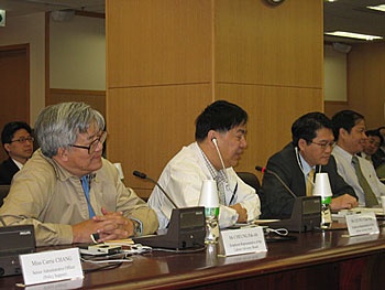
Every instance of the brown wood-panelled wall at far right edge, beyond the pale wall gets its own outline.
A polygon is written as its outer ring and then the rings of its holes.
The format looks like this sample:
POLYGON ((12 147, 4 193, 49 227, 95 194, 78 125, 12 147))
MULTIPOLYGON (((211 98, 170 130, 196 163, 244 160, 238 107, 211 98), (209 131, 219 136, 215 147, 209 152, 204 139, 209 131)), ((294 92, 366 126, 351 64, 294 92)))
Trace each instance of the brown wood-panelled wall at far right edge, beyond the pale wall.
POLYGON ((349 108, 364 115, 366 128, 385 125, 385 44, 354 44, 348 55, 349 108))

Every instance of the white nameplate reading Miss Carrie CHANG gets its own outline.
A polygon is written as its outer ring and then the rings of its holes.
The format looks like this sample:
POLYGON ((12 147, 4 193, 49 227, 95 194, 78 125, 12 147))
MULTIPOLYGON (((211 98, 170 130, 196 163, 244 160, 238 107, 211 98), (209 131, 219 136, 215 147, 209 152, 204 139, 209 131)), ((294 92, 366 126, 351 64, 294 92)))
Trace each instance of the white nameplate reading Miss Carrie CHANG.
POLYGON ((82 278, 79 248, 20 255, 24 284, 82 278))

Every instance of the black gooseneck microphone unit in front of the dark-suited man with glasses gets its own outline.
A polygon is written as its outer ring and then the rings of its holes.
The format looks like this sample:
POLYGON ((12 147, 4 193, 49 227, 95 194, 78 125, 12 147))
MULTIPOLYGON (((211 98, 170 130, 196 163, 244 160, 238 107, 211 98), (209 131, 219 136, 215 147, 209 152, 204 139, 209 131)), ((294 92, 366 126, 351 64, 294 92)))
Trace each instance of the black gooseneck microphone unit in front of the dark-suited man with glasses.
POLYGON ((321 225, 321 197, 320 196, 297 196, 277 173, 266 168, 255 167, 262 173, 274 175, 288 191, 294 198, 290 218, 266 223, 270 227, 284 227, 289 232, 309 232, 319 229, 321 225))

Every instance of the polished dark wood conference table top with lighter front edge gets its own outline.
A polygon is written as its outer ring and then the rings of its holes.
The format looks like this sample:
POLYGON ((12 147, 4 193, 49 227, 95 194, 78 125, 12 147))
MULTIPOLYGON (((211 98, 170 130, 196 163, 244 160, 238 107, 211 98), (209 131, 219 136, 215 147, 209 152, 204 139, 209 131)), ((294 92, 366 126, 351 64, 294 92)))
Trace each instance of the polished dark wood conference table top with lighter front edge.
MULTIPOLYGON (((221 257, 217 255, 219 247, 210 246, 196 253, 135 255, 132 262, 119 268, 86 273, 79 286, 82 289, 176 289, 309 267, 385 249, 384 228, 380 234, 355 237, 349 237, 344 229, 290 235, 297 239, 267 243, 266 253, 221 257)), ((84 270, 89 267, 84 265, 84 270)), ((0 289, 20 289, 15 284, 22 282, 22 276, 3 277, 0 289)))

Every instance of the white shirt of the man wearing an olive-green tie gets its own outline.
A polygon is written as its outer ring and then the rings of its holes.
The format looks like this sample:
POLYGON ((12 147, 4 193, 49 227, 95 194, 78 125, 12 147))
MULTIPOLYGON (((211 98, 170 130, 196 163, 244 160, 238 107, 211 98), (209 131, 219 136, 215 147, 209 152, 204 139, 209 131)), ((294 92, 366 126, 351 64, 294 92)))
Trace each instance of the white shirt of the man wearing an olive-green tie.
MULTIPOLYGON (((338 174, 340 174, 344 181, 354 189, 355 194, 359 197, 359 205, 365 206, 365 194, 360 185, 354 167, 352 164, 353 155, 339 146, 334 147, 332 154, 336 159, 338 174)), ((382 193, 385 193, 385 184, 378 180, 374 167, 370 161, 361 157, 358 157, 358 159, 362 174, 365 176, 369 185, 371 186, 373 193, 377 197, 378 203, 381 204, 380 196, 382 193)))

